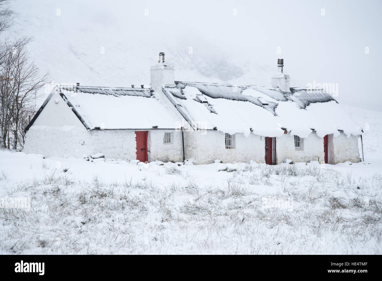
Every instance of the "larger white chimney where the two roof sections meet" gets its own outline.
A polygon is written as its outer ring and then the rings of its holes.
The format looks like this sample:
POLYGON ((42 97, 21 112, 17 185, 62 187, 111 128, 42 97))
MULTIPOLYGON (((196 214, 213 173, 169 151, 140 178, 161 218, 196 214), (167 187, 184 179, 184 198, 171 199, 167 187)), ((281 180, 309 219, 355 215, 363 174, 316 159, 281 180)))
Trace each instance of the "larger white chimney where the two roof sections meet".
POLYGON ((174 66, 165 63, 165 53, 159 53, 159 61, 151 66, 151 89, 155 92, 162 92, 163 85, 175 86, 174 66))

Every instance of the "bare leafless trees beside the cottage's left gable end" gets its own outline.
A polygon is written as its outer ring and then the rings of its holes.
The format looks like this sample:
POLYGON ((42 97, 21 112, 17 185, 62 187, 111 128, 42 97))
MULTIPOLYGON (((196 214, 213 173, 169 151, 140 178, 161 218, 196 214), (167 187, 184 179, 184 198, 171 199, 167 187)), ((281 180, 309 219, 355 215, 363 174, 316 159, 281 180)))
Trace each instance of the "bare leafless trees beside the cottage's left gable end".
MULTIPOLYGON (((0 0, 0 33, 13 24, 9 0, 0 0)), ((29 116, 36 113, 34 100, 48 82, 48 73, 29 58, 26 45, 31 38, 0 42, 0 147, 17 149, 25 140, 29 116), (8 144, 7 144, 8 141, 8 144)))

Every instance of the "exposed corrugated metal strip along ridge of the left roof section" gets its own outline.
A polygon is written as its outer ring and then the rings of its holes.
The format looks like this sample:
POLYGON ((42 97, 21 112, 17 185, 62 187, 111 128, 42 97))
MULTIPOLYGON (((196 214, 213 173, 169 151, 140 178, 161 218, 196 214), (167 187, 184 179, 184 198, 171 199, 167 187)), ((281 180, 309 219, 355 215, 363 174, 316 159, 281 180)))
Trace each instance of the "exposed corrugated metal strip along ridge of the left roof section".
POLYGON ((136 97, 151 97, 150 89, 142 88, 115 88, 115 87, 92 87, 92 86, 61 86, 61 89, 89 94, 113 95, 115 97, 131 95, 136 97))

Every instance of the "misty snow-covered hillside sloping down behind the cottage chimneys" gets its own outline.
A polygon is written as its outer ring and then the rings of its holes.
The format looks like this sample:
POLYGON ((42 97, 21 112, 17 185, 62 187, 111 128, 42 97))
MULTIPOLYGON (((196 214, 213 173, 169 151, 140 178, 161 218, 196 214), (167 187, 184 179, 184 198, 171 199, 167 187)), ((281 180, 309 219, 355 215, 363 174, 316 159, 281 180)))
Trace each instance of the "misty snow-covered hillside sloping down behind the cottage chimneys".
POLYGON ((29 45, 31 56, 42 71, 50 71, 57 83, 113 87, 150 84, 149 68, 158 60, 159 52, 165 52, 166 61, 176 66, 178 81, 263 86, 269 85, 270 76, 276 72, 274 61, 273 67, 248 60, 233 61, 213 42, 191 44, 189 38, 179 40, 185 35, 176 27, 171 28, 174 34, 163 34, 148 20, 159 16, 154 8, 152 14, 149 11, 149 16, 145 16, 144 5, 121 1, 114 4, 16 1, 12 3, 15 25, 8 36, 33 36, 29 45), (106 8, 111 6, 118 9, 106 8), (132 26, 132 21, 140 28, 132 26))

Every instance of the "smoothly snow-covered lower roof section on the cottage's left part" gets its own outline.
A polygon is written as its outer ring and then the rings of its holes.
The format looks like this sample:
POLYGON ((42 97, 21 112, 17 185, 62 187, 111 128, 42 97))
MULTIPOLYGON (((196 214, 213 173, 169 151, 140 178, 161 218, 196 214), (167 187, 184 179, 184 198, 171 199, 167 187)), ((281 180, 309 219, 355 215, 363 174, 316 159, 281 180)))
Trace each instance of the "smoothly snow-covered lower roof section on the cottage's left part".
MULTIPOLYGON (((178 116, 151 89, 60 86, 58 93, 87 129, 175 129, 178 116)), ((44 102, 47 104, 52 95, 44 102)), ((26 128, 31 127, 37 115, 26 128)))

